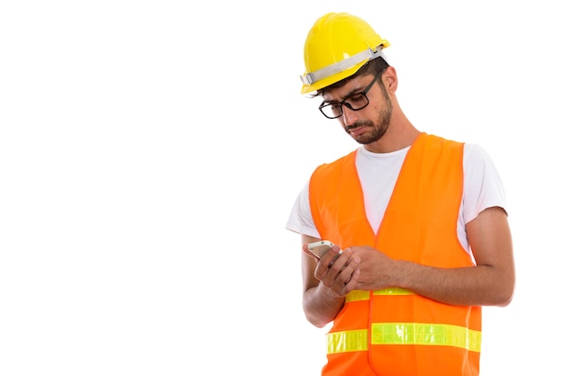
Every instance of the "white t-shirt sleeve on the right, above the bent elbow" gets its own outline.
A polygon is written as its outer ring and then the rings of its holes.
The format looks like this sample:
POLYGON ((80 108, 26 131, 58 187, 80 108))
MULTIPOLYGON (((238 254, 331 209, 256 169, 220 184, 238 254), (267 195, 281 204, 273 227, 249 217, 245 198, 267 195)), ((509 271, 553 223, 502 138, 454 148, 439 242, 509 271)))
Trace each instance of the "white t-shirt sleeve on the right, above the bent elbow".
POLYGON ((464 223, 495 206, 507 211, 505 188, 492 158, 476 144, 464 145, 464 223))

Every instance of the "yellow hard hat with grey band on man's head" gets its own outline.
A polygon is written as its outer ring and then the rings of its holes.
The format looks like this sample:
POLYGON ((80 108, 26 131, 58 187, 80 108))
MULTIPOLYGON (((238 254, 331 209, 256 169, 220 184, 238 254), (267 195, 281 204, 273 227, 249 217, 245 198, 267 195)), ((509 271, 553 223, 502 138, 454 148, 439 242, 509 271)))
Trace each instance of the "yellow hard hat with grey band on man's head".
POLYGON ((389 46, 372 27, 349 13, 327 13, 317 19, 307 34, 304 46, 305 74, 302 94, 354 75, 373 58, 386 58, 382 49, 389 46))

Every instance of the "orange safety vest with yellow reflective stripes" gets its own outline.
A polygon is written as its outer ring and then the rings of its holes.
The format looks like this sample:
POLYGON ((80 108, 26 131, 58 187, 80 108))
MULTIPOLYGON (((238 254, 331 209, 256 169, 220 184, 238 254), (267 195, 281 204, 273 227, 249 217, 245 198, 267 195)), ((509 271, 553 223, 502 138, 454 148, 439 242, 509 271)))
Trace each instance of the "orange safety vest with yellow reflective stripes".
MULTIPOLYGON (((319 166, 310 204, 323 239, 374 246, 394 259, 473 266, 460 245, 463 144, 422 133, 409 149, 378 235, 368 223, 356 151, 319 166)), ((478 375, 481 307, 442 304, 411 291, 351 291, 327 334, 324 376, 478 375)))

